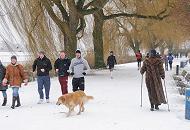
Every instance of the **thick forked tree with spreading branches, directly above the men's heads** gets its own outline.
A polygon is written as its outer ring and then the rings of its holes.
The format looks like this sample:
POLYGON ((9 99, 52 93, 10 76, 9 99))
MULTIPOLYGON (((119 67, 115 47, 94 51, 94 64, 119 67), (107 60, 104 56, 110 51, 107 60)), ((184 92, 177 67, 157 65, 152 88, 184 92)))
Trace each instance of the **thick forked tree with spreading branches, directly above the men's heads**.
POLYGON ((65 51, 74 56, 85 28, 84 16, 102 9, 108 0, 39 0, 64 35, 65 51), (55 9, 56 7, 56 9, 55 9), (55 10, 59 10, 60 15, 55 10))

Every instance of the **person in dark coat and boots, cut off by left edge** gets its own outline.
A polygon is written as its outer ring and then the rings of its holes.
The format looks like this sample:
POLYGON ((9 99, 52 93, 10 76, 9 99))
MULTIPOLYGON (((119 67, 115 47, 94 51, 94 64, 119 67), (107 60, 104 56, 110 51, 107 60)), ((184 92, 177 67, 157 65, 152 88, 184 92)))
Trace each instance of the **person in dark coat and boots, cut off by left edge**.
POLYGON ((0 91, 2 91, 3 94, 3 104, 2 106, 6 106, 7 104, 7 93, 6 90, 8 89, 7 85, 3 85, 3 79, 5 77, 6 68, 3 66, 3 64, 0 61, 0 91))

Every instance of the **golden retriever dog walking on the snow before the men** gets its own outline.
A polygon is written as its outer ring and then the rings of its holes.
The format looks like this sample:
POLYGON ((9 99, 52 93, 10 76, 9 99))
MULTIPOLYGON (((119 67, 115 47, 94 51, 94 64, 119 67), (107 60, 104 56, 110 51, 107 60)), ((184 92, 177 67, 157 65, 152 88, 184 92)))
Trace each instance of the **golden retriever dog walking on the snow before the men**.
POLYGON ((67 117, 70 116, 71 112, 74 111, 74 108, 79 105, 78 115, 80 115, 81 112, 84 112, 84 104, 90 99, 93 99, 93 97, 87 96, 83 91, 79 90, 59 97, 56 105, 63 104, 69 108, 67 117))

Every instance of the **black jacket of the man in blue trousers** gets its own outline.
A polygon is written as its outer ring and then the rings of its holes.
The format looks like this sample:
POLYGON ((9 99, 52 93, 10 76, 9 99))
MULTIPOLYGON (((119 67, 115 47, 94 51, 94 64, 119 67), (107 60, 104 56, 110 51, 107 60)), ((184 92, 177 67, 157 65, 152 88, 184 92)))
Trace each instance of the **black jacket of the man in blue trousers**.
POLYGON ((37 58, 33 63, 33 72, 36 70, 37 67, 37 76, 49 76, 49 71, 52 70, 51 61, 44 56, 42 59, 37 58), (45 71, 42 72, 41 69, 45 71))

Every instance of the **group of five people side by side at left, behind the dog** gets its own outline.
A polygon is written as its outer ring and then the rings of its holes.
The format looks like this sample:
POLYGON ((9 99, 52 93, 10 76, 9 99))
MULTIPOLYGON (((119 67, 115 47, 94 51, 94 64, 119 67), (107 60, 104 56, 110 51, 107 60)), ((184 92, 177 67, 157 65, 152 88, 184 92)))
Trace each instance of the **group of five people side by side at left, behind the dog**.
MULTIPOLYGON (((61 51, 59 58, 54 63, 55 72, 58 74, 59 83, 61 85, 62 94, 68 93, 68 76, 72 75, 72 86, 73 91, 85 89, 84 76, 90 69, 88 62, 82 58, 81 51, 76 50, 76 57, 70 60, 67 58, 64 51, 61 51)), ((52 70, 52 64, 43 51, 38 53, 38 57, 35 59, 33 65, 33 72, 37 71, 37 84, 39 101, 38 104, 44 102, 45 99, 49 103, 49 93, 51 88, 50 71, 52 70)), ((20 107, 19 88, 21 84, 28 84, 28 75, 24 72, 24 67, 17 63, 17 57, 11 57, 11 63, 5 68, 0 62, 0 91, 2 91, 4 101, 2 106, 7 104, 7 93, 8 85, 12 88, 12 105, 11 108, 20 107), (17 104, 16 104, 17 103, 17 104)))

